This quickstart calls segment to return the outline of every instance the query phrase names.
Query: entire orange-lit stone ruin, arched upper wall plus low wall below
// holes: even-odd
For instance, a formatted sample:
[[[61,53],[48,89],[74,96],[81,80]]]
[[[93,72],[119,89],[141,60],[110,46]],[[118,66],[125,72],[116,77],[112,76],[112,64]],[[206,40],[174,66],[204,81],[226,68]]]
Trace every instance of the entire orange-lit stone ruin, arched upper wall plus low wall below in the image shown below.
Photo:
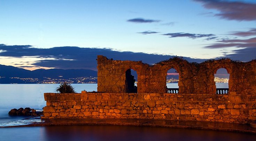
[[[166,93],[167,71],[179,73],[179,93]],[[228,94],[216,94],[214,73],[230,73]],[[127,70],[137,71],[138,93]],[[128,71],[129,73],[129,71]],[[130,91],[127,91],[130,89]],[[133,90],[132,90],[133,91]],[[179,57],[148,65],[98,56],[98,92],[45,93],[42,118],[140,118],[249,123],[256,120],[256,61],[189,63]]]

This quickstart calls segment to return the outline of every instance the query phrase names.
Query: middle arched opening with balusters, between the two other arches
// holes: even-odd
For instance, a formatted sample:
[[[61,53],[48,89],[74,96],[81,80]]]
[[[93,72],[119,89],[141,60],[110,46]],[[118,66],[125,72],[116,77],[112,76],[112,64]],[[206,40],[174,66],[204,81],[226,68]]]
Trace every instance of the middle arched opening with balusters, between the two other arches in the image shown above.
[[[166,87],[167,93],[179,93],[179,73],[171,68],[167,71],[166,75]]]

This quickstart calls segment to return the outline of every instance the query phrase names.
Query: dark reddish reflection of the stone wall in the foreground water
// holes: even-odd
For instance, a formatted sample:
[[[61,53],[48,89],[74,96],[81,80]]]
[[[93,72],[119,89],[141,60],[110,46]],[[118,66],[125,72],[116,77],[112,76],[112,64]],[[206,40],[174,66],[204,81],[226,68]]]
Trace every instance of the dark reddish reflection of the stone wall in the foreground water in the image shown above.
[[[141,126],[47,126],[46,140],[109,140],[109,141],[236,141],[256,140],[253,134],[193,130],[181,128],[141,127]]]

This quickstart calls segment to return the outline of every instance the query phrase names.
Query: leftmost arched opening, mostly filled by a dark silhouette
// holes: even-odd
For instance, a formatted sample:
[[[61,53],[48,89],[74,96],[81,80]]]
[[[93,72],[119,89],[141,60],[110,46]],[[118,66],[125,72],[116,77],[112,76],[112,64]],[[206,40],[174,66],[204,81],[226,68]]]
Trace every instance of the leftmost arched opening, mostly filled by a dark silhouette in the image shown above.
[[[137,93],[137,72],[133,69],[128,69],[125,72],[125,87],[126,93]]]

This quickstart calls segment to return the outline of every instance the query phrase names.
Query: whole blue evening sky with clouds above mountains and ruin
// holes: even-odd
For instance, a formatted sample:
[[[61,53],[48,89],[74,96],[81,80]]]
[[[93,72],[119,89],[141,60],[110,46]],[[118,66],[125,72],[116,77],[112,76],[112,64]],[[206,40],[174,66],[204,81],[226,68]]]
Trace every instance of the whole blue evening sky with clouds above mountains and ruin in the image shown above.
[[[247,62],[255,53],[255,0],[0,0],[3,65],[95,69],[96,55]]]

